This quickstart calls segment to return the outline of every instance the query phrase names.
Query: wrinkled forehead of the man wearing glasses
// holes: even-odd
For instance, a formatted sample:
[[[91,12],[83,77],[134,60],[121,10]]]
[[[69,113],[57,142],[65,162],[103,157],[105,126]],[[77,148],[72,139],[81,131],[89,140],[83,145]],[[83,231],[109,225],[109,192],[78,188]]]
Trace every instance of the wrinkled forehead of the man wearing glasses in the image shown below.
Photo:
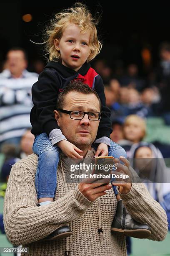
[[[68,92],[65,98],[65,108],[80,107],[100,112],[100,103],[93,93],[85,94],[82,92]],[[78,109],[77,109],[78,110]]]

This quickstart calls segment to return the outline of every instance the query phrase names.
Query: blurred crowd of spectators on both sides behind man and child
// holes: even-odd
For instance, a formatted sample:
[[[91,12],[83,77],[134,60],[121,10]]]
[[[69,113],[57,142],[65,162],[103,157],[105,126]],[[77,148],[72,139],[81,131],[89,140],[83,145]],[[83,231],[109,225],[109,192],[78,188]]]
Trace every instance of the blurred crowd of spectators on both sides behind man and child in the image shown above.
[[[140,75],[135,63],[114,68],[109,67],[105,59],[92,63],[103,79],[106,105],[111,110],[113,132],[110,137],[125,148],[129,158],[170,158],[170,145],[160,141],[143,142],[147,134],[147,118],[161,117],[165,125],[170,125],[170,43],[162,43],[158,54],[160,62],[145,76]],[[28,71],[28,56],[21,48],[10,49],[1,64],[0,182],[4,182],[0,187],[1,197],[5,195],[11,166],[32,153],[31,88],[44,66],[44,61],[38,59],[29,69],[32,72]],[[164,194],[162,186],[154,189],[148,186],[148,189],[164,207],[170,221],[170,199],[165,200],[170,197],[170,189],[165,187]]]

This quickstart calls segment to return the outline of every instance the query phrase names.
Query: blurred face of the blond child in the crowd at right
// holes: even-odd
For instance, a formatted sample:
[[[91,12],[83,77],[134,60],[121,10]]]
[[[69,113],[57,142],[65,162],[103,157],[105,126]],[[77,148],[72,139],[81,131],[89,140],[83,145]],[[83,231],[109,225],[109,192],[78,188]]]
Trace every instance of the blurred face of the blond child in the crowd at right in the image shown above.
[[[140,127],[140,123],[137,120],[126,124],[124,126],[125,138],[133,143],[139,142],[143,138],[143,129]]]

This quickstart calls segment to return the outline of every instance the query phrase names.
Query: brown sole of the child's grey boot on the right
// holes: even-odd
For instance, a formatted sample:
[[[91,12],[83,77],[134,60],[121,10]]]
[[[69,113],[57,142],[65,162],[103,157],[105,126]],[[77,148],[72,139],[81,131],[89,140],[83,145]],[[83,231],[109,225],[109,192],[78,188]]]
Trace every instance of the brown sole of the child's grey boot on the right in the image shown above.
[[[120,228],[111,228],[111,231],[124,236],[131,236],[140,239],[148,238],[151,235],[151,231],[148,229],[123,230]]]

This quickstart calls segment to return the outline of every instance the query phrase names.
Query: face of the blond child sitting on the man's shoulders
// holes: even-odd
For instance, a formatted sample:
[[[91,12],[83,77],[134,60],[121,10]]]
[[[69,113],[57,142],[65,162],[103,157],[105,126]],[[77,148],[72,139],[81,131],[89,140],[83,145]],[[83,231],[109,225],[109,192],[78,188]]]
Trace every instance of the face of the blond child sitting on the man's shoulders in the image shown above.
[[[57,51],[60,51],[62,64],[78,71],[90,54],[90,30],[80,33],[80,28],[70,23],[64,30],[62,37],[54,40]],[[76,58],[76,56],[77,58]]]

